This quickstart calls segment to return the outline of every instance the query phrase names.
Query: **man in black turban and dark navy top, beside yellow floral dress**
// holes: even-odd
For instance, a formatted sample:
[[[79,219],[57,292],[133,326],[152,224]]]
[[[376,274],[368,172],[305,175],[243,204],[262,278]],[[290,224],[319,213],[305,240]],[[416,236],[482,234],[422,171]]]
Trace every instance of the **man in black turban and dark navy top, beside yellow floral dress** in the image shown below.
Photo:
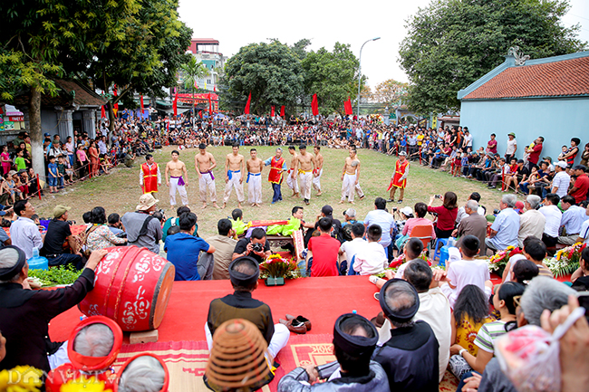
[[[391,279],[382,286],[379,301],[391,321],[391,339],[372,358],[384,368],[391,391],[438,391],[438,340],[427,322],[413,320],[420,309],[418,292],[409,282]]]

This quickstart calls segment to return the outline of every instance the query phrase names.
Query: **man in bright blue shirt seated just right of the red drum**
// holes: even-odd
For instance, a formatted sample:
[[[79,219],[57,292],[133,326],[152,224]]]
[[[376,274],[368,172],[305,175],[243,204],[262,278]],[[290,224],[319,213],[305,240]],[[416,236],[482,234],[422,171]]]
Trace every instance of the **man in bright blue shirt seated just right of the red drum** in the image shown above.
[[[175,281],[209,281],[213,276],[215,261],[200,257],[200,252],[215,253],[215,246],[194,236],[197,227],[197,215],[184,213],[179,217],[179,234],[166,238],[164,251],[168,260],[176,267]]]

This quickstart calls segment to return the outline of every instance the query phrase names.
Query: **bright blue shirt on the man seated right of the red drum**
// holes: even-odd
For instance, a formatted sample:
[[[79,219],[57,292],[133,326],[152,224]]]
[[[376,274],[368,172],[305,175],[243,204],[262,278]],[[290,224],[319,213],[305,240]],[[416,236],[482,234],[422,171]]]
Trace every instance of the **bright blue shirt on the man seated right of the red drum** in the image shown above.
[[[208,252],[209,245],[200,237],[186,233],[169,235],[164,244],[168,261],[176,267],[174,281],[200,281],[198,255]]]

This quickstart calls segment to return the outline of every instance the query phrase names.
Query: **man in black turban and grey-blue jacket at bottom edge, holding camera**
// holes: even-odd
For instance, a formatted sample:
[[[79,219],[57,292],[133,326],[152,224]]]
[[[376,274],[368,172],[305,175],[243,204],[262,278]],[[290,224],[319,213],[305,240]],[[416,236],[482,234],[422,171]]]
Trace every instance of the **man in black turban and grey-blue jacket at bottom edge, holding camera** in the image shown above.
[[[278,392],[389,392],[386,373],[378,362],[371,360],[377,339],[372,322],[359,314],[343,314],[333,326],[337,361],[295,368],[280,380]],[[321,379],[326,382],[315,383]]]

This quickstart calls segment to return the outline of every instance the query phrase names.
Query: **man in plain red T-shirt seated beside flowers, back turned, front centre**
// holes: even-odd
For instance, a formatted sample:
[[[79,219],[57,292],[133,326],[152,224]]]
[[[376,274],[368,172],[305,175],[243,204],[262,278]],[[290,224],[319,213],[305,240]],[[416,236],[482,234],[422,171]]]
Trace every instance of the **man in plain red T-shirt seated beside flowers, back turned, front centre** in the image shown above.
[[[318,237],[311,237],[308,248],[313,252],[311,263],[311,276],[337,276],[339,275],[337,256],[340,250],[340,242],[331,236],[333,230],[332,220],[323,217],[319,220]],[[307,263],[308,265],[308,263]]]

